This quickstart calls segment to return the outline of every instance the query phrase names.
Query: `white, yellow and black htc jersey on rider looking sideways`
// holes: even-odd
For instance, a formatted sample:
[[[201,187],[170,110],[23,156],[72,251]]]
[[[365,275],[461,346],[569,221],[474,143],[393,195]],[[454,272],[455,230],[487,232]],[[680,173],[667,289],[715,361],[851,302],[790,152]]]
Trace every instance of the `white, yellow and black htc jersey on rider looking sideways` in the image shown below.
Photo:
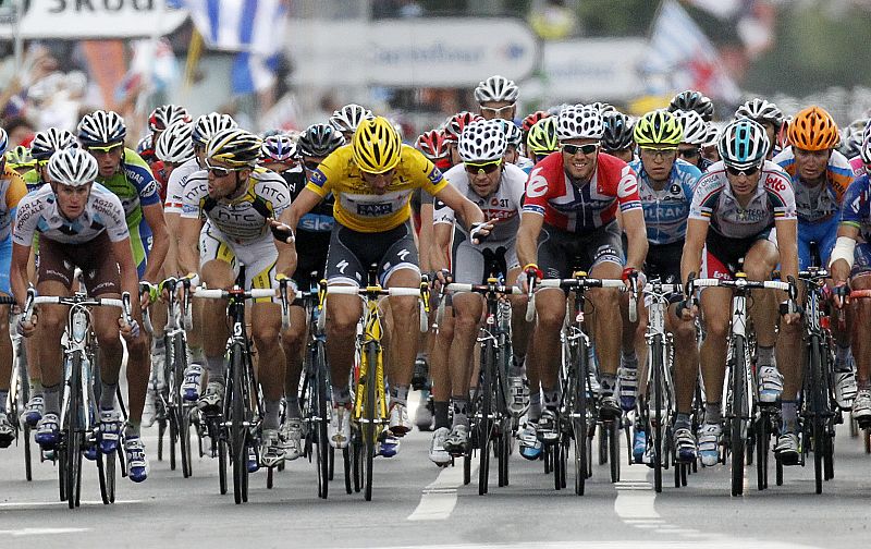
[[[182,218],[208,219],[235,244],[247,244],[269,233],[267,218],[278,218],[291,196],[287,185],[275,172],[256,168],[248,178],[245,194],[232,200],[209,196],[209,172],[200,170],[187,179]]]

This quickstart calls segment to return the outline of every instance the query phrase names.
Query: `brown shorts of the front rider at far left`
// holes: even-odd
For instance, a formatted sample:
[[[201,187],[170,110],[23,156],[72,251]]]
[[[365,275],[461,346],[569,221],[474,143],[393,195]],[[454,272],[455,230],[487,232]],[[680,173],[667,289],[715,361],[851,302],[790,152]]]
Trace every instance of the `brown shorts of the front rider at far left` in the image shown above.
[[[78,267],[91,296],[121,293],[121,273],[106,231],[84,244],[61,244],[46,237],[39,240],[39,282],[56,280],[71,290]]]

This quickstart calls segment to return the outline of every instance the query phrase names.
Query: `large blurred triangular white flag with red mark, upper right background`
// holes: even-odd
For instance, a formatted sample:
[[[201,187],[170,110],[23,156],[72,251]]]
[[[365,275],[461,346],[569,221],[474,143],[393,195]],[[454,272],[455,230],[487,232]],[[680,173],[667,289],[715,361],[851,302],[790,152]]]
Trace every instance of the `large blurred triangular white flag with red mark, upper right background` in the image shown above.
[[[676,0],[660,7],[641,72],[654,95],[697,89],[733,103],[741,98],[716,49]]]

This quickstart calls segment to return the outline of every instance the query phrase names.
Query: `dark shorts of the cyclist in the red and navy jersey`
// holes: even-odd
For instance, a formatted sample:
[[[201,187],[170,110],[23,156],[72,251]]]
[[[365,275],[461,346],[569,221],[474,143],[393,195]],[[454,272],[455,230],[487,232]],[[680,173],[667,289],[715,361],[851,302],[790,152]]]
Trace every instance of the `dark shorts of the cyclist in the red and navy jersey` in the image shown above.
[[[618,266],[623,259],[621,229],[616,221],[585,233],[544,224],[538,237],[538,265],[544,278],[568,278],[575,269],[591,271],[603,263]]]

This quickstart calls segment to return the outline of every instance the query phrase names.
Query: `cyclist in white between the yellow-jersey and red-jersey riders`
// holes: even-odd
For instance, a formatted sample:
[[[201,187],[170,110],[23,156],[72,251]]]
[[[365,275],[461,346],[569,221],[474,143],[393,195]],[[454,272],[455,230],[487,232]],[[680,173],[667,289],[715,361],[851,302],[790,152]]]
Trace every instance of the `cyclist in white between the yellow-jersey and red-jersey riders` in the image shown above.
[[[443,281],[449,278],[445,273],[450,271],[453,271],[450,278],[454,281],[470,284],[480,284],[488,277],[500,274],[511,281],[520,273],[515,240],[527,175],[518,167],[504,161],[507,147],[504,127],[498,121],[477,122],[467,126],[458,144],[463,164],[455,166],[444,174],[463,196],[478,205],[484,217],[493,223],[493,230],[486,244],[474,246],[468,232],[455,222],[454,210],[437,200],[433,255],[442,253],[433,267],[441,272]],[[443,253],[446,251],[450,251],[450,256]],[[499,266],[499,270],[491,272],[493,264]],[[515,305],[512,317],[514,352],[512,371],[507,374],[512,393],[523,394],[523,363],[528,338],[526,322],[523,321],[525,308],[522,302],[525,300],[512,297]],[[473,351],[483,314],[483,300],[474,293],[454,294],[452,304],[454,329],[449,364],[453,426],[450,434],[444,427],[437,429],[430,447],[430,460],[442,466],[451,461],[451,455],[463,455],[468,449]]]

